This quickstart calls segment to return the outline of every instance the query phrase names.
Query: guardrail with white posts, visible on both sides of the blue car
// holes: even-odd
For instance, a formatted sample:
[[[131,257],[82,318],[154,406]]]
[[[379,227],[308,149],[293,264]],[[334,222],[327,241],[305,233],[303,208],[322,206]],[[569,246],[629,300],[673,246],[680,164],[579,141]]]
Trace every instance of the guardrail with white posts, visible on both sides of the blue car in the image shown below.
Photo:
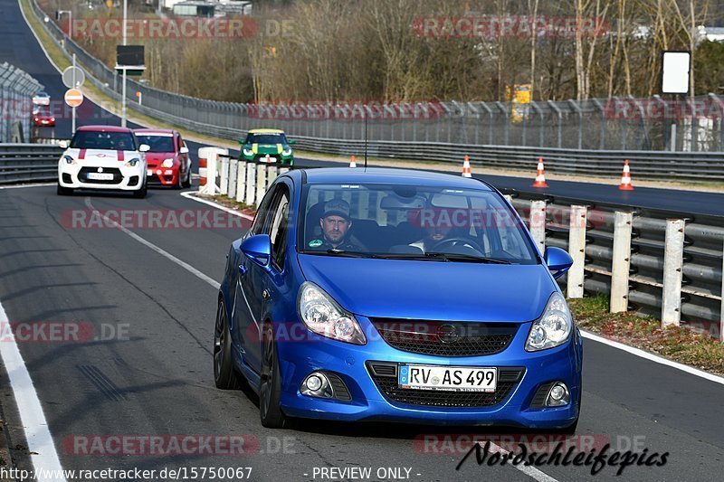
[[[275,165],[210,157],[204,194],[239,203],[258,205],[283,174]],[[559,279],[569,298],[603,293],[612,311],[637,311],[724,341],[721,218],[544,194],[508,198],[541,250],[557,246],[571,253],[574,266]]]

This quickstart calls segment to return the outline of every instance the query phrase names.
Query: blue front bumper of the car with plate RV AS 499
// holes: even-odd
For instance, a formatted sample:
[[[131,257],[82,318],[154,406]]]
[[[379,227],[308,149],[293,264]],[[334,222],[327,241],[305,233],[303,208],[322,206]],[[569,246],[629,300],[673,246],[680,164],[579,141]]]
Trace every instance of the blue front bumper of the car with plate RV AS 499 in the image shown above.
[[[364,318],[360,318],[357,317],[362,323]],[[282,380],[281,407],[292,417],[336,421],[406,421],[532,429],[568,427],[576,421],[579,411],[577,400],[581,390],[581,338],[576,329],[576,335],[572,336],[567,344],[538,353],[528,353],[523,346],[529,328],[530,323],[521,325],[508,348],[500,354],[452,358],[407,353],[387,345],[381,339],[368,340],[367,345],[360,346],[316,335],[308,336],[304,342],[283,341],[278,338]],[[490,404],[481,406],[395,402],[383,393],[379,377],[370,370],[370,362],[497,367],[499,390],[505,392],[499,393],[500,396],[493,398]],[[347,385],[351,401],[302,395],[299,391],[300,384],[314,371],[338,375]],[[505,387],[500,383],[500,373],[510,374],[516,371],[519,371],[520,375],[513,383],[509,383],[511,386]],[[554,381],[567,384],[571,402],[564,407],[532,408],[531,403],[538,388]]]

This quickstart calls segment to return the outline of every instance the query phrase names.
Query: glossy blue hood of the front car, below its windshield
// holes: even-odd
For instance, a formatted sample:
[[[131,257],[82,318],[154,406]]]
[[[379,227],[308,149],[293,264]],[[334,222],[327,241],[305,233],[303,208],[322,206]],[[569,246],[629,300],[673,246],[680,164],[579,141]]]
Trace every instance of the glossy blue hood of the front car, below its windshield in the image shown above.
[[[543,265],[300,254],[304,277],[364,317],[526,322],[556,289]]]

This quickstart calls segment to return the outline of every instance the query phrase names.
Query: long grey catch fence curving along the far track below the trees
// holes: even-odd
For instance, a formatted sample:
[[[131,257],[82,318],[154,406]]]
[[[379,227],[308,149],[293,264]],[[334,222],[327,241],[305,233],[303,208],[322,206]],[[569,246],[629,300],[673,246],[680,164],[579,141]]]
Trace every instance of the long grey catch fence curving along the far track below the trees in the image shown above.
[[[45,14],[31,0],[33,14]],[[115,71],[67,38],[54,22],[41,22],[66,53],[75,53],[94,83],[120,98]],[[136,92],[141,92],[143,105]],[[338,141],[430,142],[472,146],[538,146],[599,150],[724,151],[724,98],[714,94],[676,101],[614,98],[586,101],[417,101],[254,105],[197,99],[128,80],[133,109],[177,126],[235,139],[252,128],[278,127],[294,137]],[[366,122],[367,119],[367,122]],[[193,126],[193,127],[192,127]]]

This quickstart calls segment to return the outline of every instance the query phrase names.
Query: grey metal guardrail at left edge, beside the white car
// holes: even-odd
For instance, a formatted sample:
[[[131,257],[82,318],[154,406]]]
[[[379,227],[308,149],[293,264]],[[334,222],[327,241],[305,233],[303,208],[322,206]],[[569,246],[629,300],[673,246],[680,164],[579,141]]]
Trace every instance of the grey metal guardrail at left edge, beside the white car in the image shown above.
[[[0,184],[57,180],[62,151],[59,146],[0,144]]]

